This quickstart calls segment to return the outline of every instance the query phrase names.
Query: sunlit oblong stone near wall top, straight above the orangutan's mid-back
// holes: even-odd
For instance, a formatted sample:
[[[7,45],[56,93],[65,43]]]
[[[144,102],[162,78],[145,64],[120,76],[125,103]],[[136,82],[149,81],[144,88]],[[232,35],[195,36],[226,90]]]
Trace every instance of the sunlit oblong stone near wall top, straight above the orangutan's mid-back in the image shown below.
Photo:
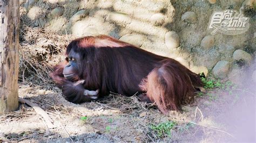
[[[129,15],[126,13],[121,12],[110,12],[109,15],[107,15],[106,20],[109,22],[116,22],[116,23],[131,23],[132,19]]]

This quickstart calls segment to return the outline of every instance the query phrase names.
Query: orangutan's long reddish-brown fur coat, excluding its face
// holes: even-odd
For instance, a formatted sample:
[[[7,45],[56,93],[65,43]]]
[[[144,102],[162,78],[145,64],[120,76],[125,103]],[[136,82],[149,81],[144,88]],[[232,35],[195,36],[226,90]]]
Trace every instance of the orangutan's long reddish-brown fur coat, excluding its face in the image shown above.
[[[68,101],[91,101],[84,89],[99,89],[99,97],[112,92],[156,103],[159,110],[180,110],[181,104],[193,100],[195,89],[201,87],[199,75],[178,61],[159,56],[106,35],[89,36],[70,42],[66,55],[73,49],[79,53],[77,80],[68,81],[62,71],[66,63],[55,67],[51,77]],[[145,96],[143,96],[143,94]]]

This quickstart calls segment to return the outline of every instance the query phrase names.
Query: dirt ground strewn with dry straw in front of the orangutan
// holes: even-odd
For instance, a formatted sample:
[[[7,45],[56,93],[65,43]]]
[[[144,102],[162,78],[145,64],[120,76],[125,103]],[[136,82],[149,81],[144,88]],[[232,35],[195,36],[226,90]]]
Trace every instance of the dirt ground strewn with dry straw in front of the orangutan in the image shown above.
[[[20,83],[19,97],[41,106],[55,126],[49,128],[30,106],[20,104],[18,111],[0,116],[0,142],[255,141],[255,92],[232,91],[207,90],[183,111],[163,115],[135,96],[112,94],[72,104],[58,89]],[[152,129],[166,121],[175,123],[170,134]]]

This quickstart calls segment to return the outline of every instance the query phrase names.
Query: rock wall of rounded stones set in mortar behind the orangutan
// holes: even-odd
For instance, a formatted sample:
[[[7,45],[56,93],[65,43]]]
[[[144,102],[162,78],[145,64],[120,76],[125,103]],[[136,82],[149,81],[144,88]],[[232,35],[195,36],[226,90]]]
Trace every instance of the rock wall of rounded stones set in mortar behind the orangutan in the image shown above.
[[[255,56],[254,0],[20,0],[20,3],[26,26],[75,37],[111,35],[176,59],[196,73],[203,71],[207,75],[212,70],[214,76],[225,78],[233,70],[250,66]],[[207,26],[214,11],[239,11],[241,6],[244,15],[250,18],[247,32],[210,34]]]

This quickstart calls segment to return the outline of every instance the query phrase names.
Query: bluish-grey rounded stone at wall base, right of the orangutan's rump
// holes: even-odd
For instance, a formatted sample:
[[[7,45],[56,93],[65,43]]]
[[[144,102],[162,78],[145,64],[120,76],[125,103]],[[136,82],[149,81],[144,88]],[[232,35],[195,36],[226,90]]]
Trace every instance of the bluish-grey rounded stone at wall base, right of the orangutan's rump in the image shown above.
[[[212,73],[214,76],[223,79],[227,77],[229,70],[230,70],[230,62],[222,60],[217,62],[217,64],[212,69]]]

